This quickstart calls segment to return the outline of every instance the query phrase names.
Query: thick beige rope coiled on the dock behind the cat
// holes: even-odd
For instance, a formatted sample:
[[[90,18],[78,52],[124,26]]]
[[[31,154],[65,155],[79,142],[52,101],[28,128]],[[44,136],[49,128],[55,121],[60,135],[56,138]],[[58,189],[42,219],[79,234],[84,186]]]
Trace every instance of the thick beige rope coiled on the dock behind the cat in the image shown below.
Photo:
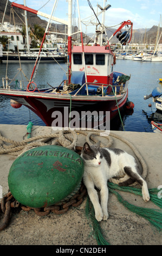
[[[36,137],[31,137],[28,139],[24,139],[21,142],[17,142],[14,141],[12,139],[9,138],[5,138],[1,135],[0,132],[0,154],[11,154],[11,155],[20,155],[22,154],[24,151],[27,151],[31,148],[34,147],[40,147],[43,145],[48,145],[48,141],[50,141],[50,139],[54,139],[53,142],[51,142],[52,145],[61,145],[62,147],[66,147],[69,149],[74,150],[75,149],[75,145],[78,141],[78,135],[85,135],[86,136],[86,142],[88,142],[90,145],[92,145],[93,142],[97,143],[98,141],[100,141],[100,139],[94,137],[94,136],[100,136],[100,137],[104,137],[107,139],[107,143],[103,144],[101,142],[101,147],[111,147],[113,144],[113,139],[117,138],[120,139],[122,142],[126,143],[134,152],[135,156],[138,158],[141,167],[142,167],[142,178],[146,178],[147,176],[147,164],[145,162],[145,160],[142,158],[141,154],[139,153],[139,151],[137,150],[137,148],[135,148],[135,146],[129,142],[127,139],[116,135],[113,132],[110,132],[109,135],[106,135],[105,131],[102,130],[61,130],[61,131],[57,131],[56,133],[52,133],[52,134],[48,134],[48,135],[41,135],[41,136],[36,136]],[[90,141],[91,140],[91,141]],[[9,143],[10,145],[6,145],[4,144],[4,142]],[[110,182],[113,182],[115,184],[119,184],[119,180],[116,178],[111,178],[109,180]],[[133,185],[136,185],[137,183],[134,182]]]

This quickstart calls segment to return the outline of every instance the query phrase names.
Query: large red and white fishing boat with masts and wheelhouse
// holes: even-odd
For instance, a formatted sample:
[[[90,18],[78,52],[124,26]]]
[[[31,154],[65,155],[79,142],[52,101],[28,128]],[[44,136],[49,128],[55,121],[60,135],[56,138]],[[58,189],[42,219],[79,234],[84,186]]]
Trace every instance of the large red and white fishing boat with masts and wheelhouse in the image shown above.
[[[111,5],[105,6],[105,2],[101,9],[103,16],[105,11],[111,7]],[[96,24],[94,45],[88,46],[83,45],[80,12],[78,12],[81,45],[72,47],[72,0],[68,1],[68,22],[53,16],[56,3],[57,1],[55,1],[51,11],[43,40],[46,38],[51,20],[68,25],[67,76],[62,77],[57,87],[50,85],[48,88],[37,88],[34,74],[38,64],[38,56],[41,54],[42,41],[40,52],[26,88],[14,89],[7,78],[3,80],[3,88],[0,89],[0,95],[11,99],[14,107],[20,107],[21,105],[28,107],[47,126],[99,127],[104,130],[103,124],[108,123],[108,120],[114,118],[120,109],[124,107],[128,98],[128,82],[130,78],[130,76],[113,70],[115,55],[109,41],[116,35],[121,44],[128,44],[132,38],[133,23],[129,20],[122,22],[111,38],[108,39],[104,23],[101,25],[98,22]],[[77,5],[79,10],[78,2]],[[89,6],[92,8],[92,5]],[[12,2],[12,7],[38,14],[38,11],[14,2]],[[96,19],[96,14],[94,17]],[[98,28],[99,26],[100,28]],[[122,32],[121,29],[124,27],[126,30]],[[101,44],[101,35],[103,36],[103,34],[106,35],[107,39],[105,45]]]

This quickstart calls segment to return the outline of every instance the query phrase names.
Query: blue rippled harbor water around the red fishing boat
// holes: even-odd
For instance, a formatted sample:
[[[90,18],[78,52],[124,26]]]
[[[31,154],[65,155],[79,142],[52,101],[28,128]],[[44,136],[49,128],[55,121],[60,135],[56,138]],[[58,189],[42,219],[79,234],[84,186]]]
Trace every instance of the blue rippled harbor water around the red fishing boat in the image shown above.
[[[21,64],[24,74],[30,78],[34,64]],[[2,87],[2,77],[6,76],[7,64],[0,64],[0,86]],[[9,63],[7,76],[13,78],[20,68],[19,64]],[[135,62],[134,60],[117,59],[114,71],[123,72],[131,75],[128,87],[128,100],[134,103],[133,111],[121,113],[120,117],[111,122],[111,130],[125,130],[137,132],[153,132],[151,120],[162,122],[162,113],[155,109],[155,103],[152,98],[144,100],[144,95],[151,94],[155,87],[160,86],[159,78],[161,74],[162,63]],[[35,83],[38,88],[49,87],[48,84],[55,87],[62,82],[64,73],[67,72],[67,65],[62,63],[40,63],[36,72]],[[20,73],[15,78],[22,80]],[[23,77],[25,81],[25,77]],[[17,83],[20,86],[20,83]],[[27,85],[27,80],[25,81]],[[148,105],[151,104],[151,107]],[[88,109],[87,109],[88,110]],[[28,125],[32,121],[34,125],[45,126],[43,121],[35,113],[29,111],[27,107],[15,109],[10,105],[10,100],[0,96],[0,124],[18,124]]]

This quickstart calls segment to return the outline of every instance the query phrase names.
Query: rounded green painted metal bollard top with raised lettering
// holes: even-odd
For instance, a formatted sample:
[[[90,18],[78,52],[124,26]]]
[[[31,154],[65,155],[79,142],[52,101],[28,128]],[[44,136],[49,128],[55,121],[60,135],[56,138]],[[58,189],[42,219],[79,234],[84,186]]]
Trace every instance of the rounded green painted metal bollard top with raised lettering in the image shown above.
[[[18,202],[42,208],[72,193],[81,182],[83,170],[83,161],[74,151],[47,145],[26,151],[12,163],[8,185]]]

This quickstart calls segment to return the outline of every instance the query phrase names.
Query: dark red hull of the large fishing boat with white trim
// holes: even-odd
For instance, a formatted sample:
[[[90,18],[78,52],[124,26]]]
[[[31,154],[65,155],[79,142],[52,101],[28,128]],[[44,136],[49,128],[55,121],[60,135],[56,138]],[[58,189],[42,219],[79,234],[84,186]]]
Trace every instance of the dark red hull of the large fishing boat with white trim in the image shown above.
[[[118,115],[118,109],[124,107],[128,90],[122,95],[103,97],[5,89],[1,89],[0,94],[31,109],[47,126],[109,130],[109,121]]]

